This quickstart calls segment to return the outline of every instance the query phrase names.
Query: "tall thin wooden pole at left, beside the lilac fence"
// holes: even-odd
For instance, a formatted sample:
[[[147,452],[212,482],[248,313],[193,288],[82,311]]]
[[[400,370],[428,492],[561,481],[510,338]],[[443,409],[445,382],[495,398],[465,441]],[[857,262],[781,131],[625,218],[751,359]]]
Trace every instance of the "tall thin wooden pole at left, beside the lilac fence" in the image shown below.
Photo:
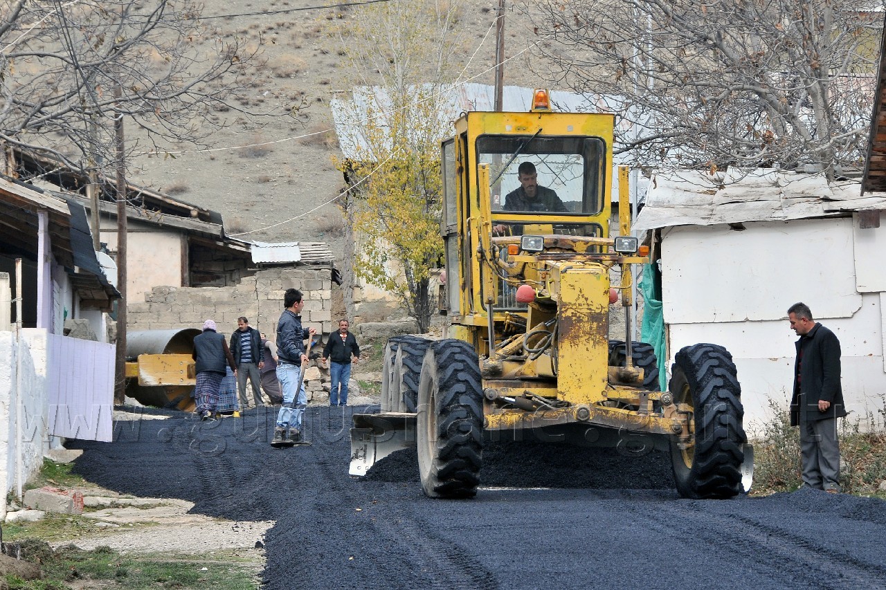
[[[120,83],[114,87],[114,98],[120,105],[123,90]],[[123,111],[116,114],[113,123],[117,151],[117,358],[114,369],[114,402],[122,404],[126,396],[126,159],[123,154]],[[98,233],[98,232],[96,232]]]

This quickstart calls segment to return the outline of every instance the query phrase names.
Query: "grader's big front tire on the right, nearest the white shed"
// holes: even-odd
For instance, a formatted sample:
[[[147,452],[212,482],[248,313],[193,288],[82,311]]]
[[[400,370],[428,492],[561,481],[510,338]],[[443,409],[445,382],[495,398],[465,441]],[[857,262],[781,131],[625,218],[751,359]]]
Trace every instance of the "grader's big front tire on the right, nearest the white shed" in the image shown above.
[[[674,357],[669,389],[675,403],[692,408],[693,443],[671,439],[677,491],[684,498],[732,498],[742,492],[744,408],[732,355],[711,344],[687,346]]]

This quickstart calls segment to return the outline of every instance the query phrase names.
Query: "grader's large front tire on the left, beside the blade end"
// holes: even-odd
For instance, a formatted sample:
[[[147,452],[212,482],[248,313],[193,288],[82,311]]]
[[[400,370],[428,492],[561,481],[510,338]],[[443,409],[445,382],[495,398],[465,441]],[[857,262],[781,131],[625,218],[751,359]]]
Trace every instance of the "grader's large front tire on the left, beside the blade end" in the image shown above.
[[[483,453],[483,390],[477,353],[466,342],[440,340],[428,349],[416,422],[425,495],[476,495]]]

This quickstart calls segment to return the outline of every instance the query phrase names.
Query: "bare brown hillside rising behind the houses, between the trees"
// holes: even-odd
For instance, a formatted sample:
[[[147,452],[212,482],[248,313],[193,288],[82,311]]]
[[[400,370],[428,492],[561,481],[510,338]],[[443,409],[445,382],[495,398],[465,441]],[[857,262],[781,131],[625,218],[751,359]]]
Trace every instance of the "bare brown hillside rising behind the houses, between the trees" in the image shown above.
[[[218,113],[229,126],[214,135],[212,151],[188,151],[183,146],[175,158],[137,158],[129,168],[129,180],[220,212],[230,235],[262,241],[324,241],[340,259],[343,218],[332,202],[344,181],[332,164],[340,152],[331,131],[329,105],[331,98],[348,91],[349,82],[337,55],[334,31],[349,19],[360,19],[367,9],[344,4],[312,8],[317,4],[323,0],[207,0],[205,16],[241,15],[213,19],[223,35],[261,42],[265,66],[258,82],[238,102],[277,113],[302,97],[309,106],[299,120],[289,115],[265,117],[254,130],[245,129],[233,112]],[[470,29],[470,43],[455,58],[474,57],[462,79],[494,82],[491,27],[497,5],[497,0],[463,4],[460,24]],[[507,13],[506,55],[525,49],[532,35],[527,23],[524,15]],[[509,61],[506,84],[538,83],[527,67],[528,55],[527,51]],[[486,70],[490,71],[483,74]]]

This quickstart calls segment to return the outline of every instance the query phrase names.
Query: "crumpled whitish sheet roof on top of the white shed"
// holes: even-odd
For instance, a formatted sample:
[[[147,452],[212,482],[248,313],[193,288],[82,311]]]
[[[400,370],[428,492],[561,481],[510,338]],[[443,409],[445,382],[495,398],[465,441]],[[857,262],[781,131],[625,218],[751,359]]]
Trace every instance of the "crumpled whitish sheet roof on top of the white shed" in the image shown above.
[[[669,171],[652,176],[633,229],[810,219],[884,207],[886,197],[861,197],[859,182],[828,183],[820,174],[771,169],[733,169],[714,175]]]

